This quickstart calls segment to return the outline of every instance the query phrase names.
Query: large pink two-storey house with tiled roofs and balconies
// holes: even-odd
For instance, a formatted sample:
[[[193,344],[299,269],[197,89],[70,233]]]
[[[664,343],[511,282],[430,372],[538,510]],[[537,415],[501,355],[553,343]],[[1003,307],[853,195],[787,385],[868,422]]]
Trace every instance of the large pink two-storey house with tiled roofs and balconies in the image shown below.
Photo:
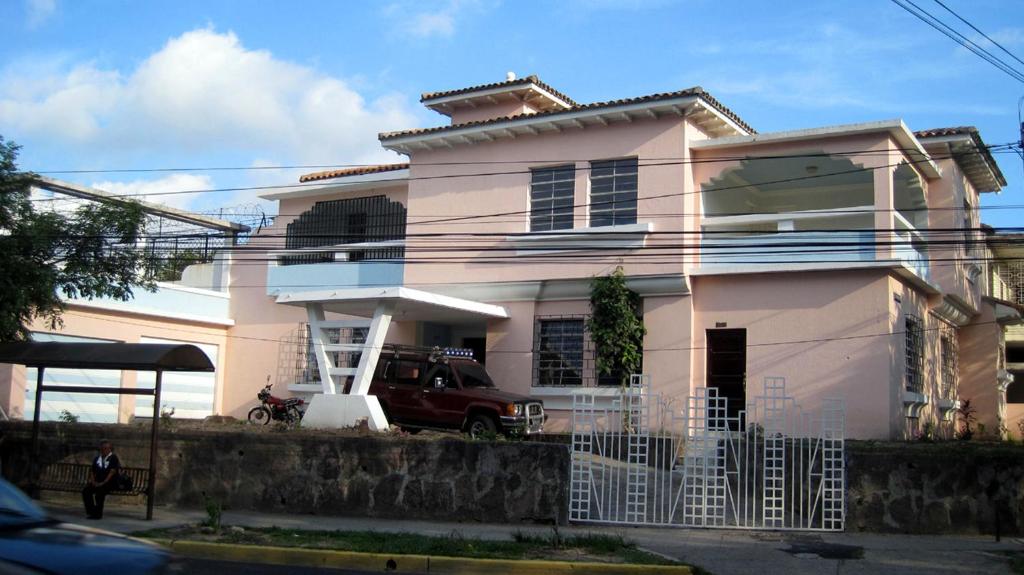
[[[265,196],[279,217],[230,268],[221,412],[271,375],[358,392],[389,341],[472,348],[564,430],[572,394],[618,392],[584,329],[618,265],[655,392],[741,402],[779,375],[876,439],[998,404],[1020,316],[986,294],[979,195],[1006,182],[973,128],[758,134],[700,88],[579,104],[532,76],[422,101],[451,125],[381,134],[408,163]]]

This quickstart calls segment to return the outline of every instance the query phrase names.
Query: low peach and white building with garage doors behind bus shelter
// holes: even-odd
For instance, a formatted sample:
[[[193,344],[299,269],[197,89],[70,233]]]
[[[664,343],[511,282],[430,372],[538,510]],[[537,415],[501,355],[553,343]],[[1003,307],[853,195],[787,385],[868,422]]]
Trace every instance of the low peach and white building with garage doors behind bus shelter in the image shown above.
[[[37,210],[71,211],[85,202],[110,201],[113,194],[50,178],[40,178],[32,197]],[[213,373],[167,372],[161,406],[176,417],[201,418],[222,411],[225,389],[230,295],[230,251],[244,225],[141,202],[147,216],[142,247],[158,279],[157,290],[134,290],[127,302],[112,299],[66,300],[63,325],[33,325],[36,341],[186,343],[200,347],[216,367]],[[152,387],[152,372],[50,368],[50,384]],[[0,364],[0,406],[12,417],[32,418],[36,370]],[[56,419],[67,410],[88,423],[127,423],[136,414],[151,417],[153,399],[134,395],[48,393],[40,415]]]

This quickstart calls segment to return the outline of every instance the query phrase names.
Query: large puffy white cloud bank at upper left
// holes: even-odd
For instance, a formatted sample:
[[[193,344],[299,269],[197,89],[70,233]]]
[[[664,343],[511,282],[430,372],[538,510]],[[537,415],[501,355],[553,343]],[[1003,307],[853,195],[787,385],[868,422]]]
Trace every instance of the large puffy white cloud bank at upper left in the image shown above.
[[[62,60],[0,71],[0,125],[83,149],[369,163],[392,157],[378,132],[416,124],[403,98],[368,101],[345,80],[210,29],[131,71]]]

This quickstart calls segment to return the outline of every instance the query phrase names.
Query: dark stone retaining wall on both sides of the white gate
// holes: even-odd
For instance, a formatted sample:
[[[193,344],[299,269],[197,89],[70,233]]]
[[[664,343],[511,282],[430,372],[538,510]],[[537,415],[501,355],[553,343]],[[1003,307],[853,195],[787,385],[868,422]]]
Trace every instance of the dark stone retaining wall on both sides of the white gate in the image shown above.
[[[565,523],[568,437],[544,443],[459,436],[219,426],[160,441],[157,502],[353,517]],[[40,462],[88,462],[102,438],[145,467],[148,428],[43,424]],[[3,475],[25,484],[31,425],[0,425]],[[998,443],[847,442],[847,529],[1024,533],[1024,447]],[[998,521],[997,521],[998,520]],[[998,523],[998,525],[997,525]]]

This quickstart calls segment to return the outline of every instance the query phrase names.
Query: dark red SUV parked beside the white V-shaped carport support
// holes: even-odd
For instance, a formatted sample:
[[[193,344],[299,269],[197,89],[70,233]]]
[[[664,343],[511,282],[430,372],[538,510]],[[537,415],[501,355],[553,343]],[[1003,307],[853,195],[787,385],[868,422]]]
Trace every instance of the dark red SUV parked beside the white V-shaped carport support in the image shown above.
[[[544,403],[495,387],[468,350],[385,345],[370,393],[388,422],[404,429],[542,433]]]

